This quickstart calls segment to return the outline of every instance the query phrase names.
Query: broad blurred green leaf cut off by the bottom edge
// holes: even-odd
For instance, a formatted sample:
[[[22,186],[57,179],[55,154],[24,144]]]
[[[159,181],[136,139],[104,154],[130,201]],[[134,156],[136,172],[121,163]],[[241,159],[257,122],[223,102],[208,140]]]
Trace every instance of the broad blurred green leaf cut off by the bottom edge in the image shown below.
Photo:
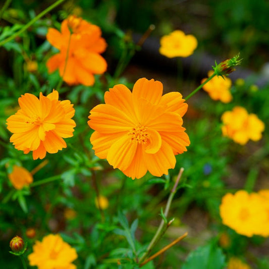
[[[225,256],[221,248],[208,244],[192,251],[181,269],[222,269],[224,265]]]

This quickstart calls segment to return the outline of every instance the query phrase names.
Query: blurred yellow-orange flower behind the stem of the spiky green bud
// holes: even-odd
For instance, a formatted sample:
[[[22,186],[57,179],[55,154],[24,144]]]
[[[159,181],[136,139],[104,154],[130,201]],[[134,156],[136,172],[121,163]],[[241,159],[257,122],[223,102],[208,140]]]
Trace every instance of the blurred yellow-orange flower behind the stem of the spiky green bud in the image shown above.
[[[208,78],[214,73],[213,70],[208,71]],[[207,78],[203,78],[201,83],[206,81]],[[232,80],[223,76],[214,76],[209,80],[203,89],[209,94],[210,98],[213,100],[220,100],[224,103],[229,103],[233,96],[231,94]]]

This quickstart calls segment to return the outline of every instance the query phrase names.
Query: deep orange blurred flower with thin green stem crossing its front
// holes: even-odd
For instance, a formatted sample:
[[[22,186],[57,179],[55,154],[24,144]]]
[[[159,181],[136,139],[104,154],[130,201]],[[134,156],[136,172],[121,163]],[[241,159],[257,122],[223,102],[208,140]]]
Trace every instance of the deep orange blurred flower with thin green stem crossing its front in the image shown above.
[[[48,72],[59,69],[63,80],[69,85],[93,85],[93,75],[106,71],[107,64],[100,56],[106,42],[98,26],[71,15],[62,22],[61,32],[49,28],[46,38],[60,50],[47,61]]]

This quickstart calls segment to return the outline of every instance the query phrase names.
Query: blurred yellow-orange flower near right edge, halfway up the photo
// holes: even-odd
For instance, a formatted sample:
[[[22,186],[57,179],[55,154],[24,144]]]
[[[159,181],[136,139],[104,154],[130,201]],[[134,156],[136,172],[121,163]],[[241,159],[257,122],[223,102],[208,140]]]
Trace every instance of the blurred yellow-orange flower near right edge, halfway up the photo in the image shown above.
[[[250,139],[260,140],[265,128],[264,123],[255,114],[248,114],[241,106],[235,106],[232,111],[226,111],[222,115],[222,122],[223,135],[241,145],[245,145]]]

